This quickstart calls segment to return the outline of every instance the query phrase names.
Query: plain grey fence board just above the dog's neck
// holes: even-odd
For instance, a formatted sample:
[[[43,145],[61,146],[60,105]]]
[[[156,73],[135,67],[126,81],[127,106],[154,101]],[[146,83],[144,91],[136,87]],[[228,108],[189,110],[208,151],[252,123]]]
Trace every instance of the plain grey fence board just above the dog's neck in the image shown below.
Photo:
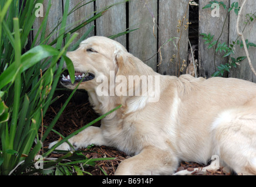
[[[132,0],[129,4],[129,51],[157,71],[157,1]]]

